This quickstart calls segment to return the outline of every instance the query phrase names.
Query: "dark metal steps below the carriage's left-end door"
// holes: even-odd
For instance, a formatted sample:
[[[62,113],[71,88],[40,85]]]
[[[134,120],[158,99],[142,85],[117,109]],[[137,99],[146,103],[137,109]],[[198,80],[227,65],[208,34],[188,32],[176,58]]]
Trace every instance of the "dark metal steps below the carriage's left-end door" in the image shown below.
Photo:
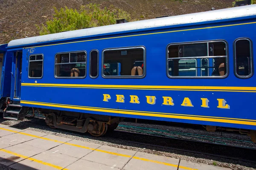
[[[28,113],[29,108],[21,105],[9,104],[3,113],[3,119],[22,120]]]

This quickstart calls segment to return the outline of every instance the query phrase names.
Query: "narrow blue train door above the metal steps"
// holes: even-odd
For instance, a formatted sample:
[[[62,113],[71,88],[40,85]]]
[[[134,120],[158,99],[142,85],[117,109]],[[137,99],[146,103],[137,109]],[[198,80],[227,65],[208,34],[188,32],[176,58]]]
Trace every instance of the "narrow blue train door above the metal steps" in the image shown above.
[[[21,63],[22,63],[22,52],[17,51],[14,53],[13,62],[12,62],[11,99],[13,101],[20,101]]]

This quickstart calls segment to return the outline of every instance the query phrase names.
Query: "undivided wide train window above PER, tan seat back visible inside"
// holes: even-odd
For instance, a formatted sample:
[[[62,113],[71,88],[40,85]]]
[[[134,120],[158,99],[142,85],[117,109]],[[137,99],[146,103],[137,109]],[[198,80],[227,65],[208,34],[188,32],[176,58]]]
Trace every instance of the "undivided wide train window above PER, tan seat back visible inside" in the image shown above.
[[[145,48],[105,49],[102,57],[102,77],[145,77]]]

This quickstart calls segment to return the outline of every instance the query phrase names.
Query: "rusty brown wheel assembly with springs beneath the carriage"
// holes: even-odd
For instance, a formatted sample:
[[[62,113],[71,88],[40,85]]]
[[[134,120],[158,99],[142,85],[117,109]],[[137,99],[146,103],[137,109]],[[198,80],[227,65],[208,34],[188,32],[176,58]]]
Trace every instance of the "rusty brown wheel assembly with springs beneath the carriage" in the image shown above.
[[[107,131],[115,130],[122,117],[96,114],[76,113],[68,111],[41,110],[45,122],[51,128],[60,128],[76,132],[89,132],[92,136],[103,136]]]

